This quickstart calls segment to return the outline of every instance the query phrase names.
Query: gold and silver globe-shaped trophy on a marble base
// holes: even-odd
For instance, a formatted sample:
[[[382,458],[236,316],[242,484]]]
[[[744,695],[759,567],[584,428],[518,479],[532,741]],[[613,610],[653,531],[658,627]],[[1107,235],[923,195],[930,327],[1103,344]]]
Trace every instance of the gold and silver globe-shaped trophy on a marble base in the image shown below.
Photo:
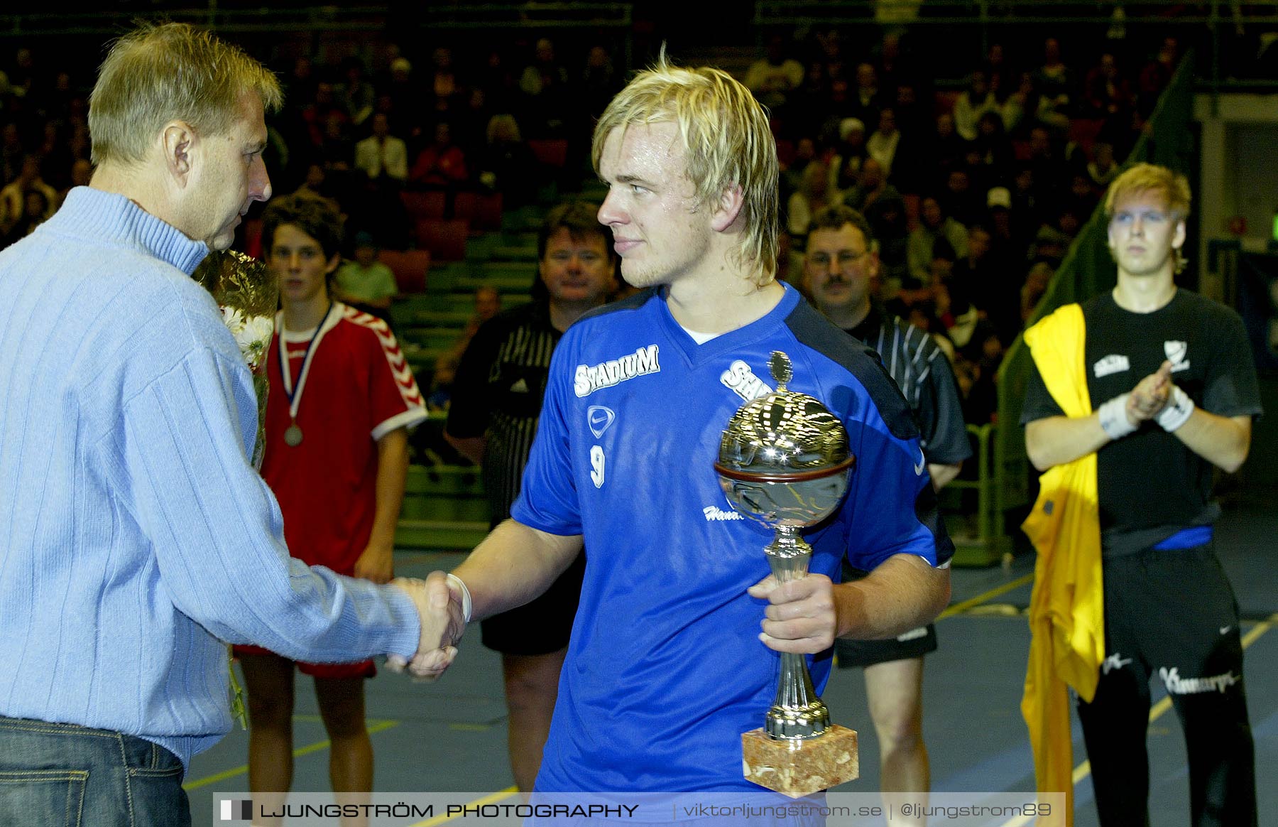
[[[835,513],[855,458],[847,429],[820,400],[786,390],[790,357],[772,352],[777,390],[734,414],[714,463],[727,501],[744,516],[776,530],[763,551],[780,583],[808,574],[812,546],[800,530]],[[856,732],[829,722],[806,656],[782,652],[777,697],[760,729],[741,735],[745,777],[799,798],[859,772]]]

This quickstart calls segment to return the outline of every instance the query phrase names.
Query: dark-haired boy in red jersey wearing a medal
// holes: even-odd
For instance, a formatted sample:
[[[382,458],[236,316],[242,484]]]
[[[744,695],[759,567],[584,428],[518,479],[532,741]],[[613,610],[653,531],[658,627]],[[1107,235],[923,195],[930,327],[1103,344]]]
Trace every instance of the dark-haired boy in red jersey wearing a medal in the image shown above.
[[[408,428],[427,412],[386,322],[331,298],[341,224],[322,201],[286,197],[262,215],[262,249],[280,280],[268,358],[262,477],[284,514],[291,552],[339,574],[386,583],[408,473]],[[249,789],[282,800],[293,780],[294,662],[236,647],[248,690]],[[312,675],[332,741],[339,801],[372,790],[363,679],[372,661],[298,663]],[[346,798],[343,794],[348,794]],[[363,796],[360,796],[363,794]],[[344,823],[355,823],[345,822]]]

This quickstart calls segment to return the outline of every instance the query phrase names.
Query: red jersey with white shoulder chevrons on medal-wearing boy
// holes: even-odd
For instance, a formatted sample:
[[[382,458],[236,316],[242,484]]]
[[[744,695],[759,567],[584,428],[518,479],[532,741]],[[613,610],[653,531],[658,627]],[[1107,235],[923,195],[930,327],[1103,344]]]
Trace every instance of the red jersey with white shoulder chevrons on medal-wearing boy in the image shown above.
[[[377,440],[423,422],[426,404],[395,335],[376,316],[335,302],[318,331],[285,330],[282,313],[275,331],[262,477],[280,501],[289,552],[349,574],[373,527]],[[280,371],[281,335],[288,386]],[[296,390],[296,446],[284,440],[293,423],[288,387]]]

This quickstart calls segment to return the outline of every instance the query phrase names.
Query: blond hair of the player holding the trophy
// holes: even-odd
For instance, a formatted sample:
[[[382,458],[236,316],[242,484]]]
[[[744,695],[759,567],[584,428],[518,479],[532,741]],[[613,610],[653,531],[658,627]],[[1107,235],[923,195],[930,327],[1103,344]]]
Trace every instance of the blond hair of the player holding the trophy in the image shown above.
[[[686,175],[697,207],[741,188],[745,235],[735,251],[743,266],[773,280],[777,261],[777,143],[768,114],[750,91],[720,69],[680,68],[666,60],[640,72],[621,89],[594,127],[590,160],[599,170],[603,142],[613,129],[672,123],[684,142]]]

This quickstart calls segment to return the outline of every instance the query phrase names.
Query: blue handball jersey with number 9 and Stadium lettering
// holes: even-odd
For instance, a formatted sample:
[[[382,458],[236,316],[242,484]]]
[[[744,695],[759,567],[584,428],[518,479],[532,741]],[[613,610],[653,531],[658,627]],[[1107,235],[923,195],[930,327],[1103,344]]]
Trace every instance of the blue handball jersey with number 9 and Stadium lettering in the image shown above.
[[[538,790],[760,789],[741,776],[740,738],[763,725],[781,658],[758,639],[766,602],[746,588],[768,574],[772,533],[732,511],[713,464],[732,414],[773,390],[773,350],[792,360],[787,387],[835,412],[856,455],[841,510],[805,533],[810,570],[837,579],[845,553],[864,570],[897,553],[948,561],[900,391],[791,288],[702,345],[656,290],[583,317],[555,350],[511,510],[589,548]],[[818,692],[829,657],[810,661]]]

